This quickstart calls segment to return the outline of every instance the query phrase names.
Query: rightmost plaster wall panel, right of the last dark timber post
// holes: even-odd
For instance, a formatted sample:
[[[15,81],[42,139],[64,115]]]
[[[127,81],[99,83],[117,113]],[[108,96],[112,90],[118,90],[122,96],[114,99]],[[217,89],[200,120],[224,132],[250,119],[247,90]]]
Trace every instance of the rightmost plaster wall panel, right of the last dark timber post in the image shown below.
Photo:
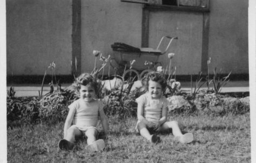
[[[211,69],[248,73],[248,1],[211,1]]]

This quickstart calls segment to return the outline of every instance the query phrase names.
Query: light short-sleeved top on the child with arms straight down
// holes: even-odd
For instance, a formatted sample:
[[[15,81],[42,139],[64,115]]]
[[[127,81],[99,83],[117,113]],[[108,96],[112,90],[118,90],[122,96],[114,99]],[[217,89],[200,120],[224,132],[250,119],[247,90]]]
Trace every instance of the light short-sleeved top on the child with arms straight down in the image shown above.
[[[79,127],[96,126],[99,119],[99,110],[103,109],[104,104],[99,100],[85,102],[79,98],[69,105],[69,109],[75,109],[73,124]]]

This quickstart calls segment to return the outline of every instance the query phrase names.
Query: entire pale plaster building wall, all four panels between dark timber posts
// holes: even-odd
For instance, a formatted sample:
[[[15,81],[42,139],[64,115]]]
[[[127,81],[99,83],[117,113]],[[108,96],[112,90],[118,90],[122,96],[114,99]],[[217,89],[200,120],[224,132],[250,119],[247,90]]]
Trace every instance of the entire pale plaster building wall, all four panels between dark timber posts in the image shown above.
[[[214,0],[210,10],[211,69],[248,74],[248,2]],[[140,47],[142,11],[142,4],[119,0],[81,1],[81,72],[93,69],[94,49],[107,56],[112,55],[114,42]],[[168,51],[176,53],[172,66],[177,67],[177,74],[197,74],[201,70],[203,13],[153,11],[149,18],[149,47],[156,48],[161,36],[179,37]],[[71,74],[71,0],[7,0],[6,32],[8,75],[43,75],[53,60],[56,74]],[[169,65],[166,55],[159,60]]]

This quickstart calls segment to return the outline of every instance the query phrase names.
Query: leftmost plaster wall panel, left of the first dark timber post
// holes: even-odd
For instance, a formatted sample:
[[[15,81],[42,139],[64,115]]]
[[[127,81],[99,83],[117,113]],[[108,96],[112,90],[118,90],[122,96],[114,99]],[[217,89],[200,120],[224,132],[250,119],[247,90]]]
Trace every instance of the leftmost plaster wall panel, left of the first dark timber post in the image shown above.
[[[7,74],[71,74],[71,0],[6,0]],[[50,73],[50,72],[49,72]]]

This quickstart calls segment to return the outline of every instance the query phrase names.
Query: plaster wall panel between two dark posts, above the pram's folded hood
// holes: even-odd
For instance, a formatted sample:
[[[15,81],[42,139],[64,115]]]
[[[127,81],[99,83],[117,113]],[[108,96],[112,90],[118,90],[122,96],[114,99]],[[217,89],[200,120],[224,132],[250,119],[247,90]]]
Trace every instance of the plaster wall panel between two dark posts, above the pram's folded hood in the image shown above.
[[[93,49],[107,56],[112,54],[111,44],[114,42],[140,46],[143,5],[123,3],[119,0],[90,0],[81,3],[81,72],[91,72],[93,69],[95,60],[92,55]],[[105,68],[105,73],[107,70],[108,66]]]

